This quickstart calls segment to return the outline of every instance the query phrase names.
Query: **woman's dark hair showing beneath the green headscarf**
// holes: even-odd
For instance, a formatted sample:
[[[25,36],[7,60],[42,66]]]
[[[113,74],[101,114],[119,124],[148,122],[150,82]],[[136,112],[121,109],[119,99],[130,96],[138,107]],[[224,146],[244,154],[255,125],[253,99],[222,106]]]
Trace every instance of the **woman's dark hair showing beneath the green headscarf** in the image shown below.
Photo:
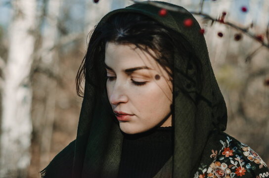
[[[104,72],[101,72],[104,67],[103,69],[99,67],[104,66],[106,42],[134,44],[137,48],[151,55],[170,75],[171,80],[173,80],[175,46],[183,58],[195,60],[194,64],[199,63],[199,61],[196,61],[197,58],[193,57],[191,45],[178,32],[145,15],[118,13],[112,15],[106,22],[98,24],[94,29],[87,53],[76,77],[77,94],[79,96],[82,96],[81,82],[84,78],[99,91],[105,88],[103,84],[106,76]],[[155,56],[149,49],[155,53]],[[198,65],[196,69],[199,70],[200,66]],[[199,75],[199,72],[197,73]]]

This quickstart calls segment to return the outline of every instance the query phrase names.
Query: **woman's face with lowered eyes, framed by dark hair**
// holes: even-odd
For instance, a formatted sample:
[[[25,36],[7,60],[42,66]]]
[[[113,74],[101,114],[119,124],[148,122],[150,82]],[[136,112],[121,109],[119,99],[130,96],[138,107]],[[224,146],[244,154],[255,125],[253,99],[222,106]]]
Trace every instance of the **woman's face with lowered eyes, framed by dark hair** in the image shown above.
[[[108,42],[105,65],[108,99],[124,133],[172,126],[172,82],[154,58],[135,45]]]

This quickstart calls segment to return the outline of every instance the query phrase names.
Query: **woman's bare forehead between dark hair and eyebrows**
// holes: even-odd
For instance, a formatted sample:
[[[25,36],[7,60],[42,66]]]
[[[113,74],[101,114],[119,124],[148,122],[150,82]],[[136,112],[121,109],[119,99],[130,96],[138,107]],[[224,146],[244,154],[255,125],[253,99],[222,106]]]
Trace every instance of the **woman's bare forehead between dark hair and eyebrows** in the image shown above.
[[[155,53],[150,51],[153,55]],[[106,43],[105,46],[105,63],[112,68],[131,68],[138,66],[147,66],[158,70],[160,65],[147,52],[142,51],[133,44],[115,44]]]

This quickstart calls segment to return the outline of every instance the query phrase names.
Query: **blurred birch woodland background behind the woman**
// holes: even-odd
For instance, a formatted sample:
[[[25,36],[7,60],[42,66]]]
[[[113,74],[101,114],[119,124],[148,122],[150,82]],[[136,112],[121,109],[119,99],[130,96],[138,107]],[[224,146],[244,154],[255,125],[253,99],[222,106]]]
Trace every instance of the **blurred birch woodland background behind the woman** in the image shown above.
[[[269,164],[269,0],[204,0],[202,9],[202,0],[163,1],[248,32],[195,15],[226,101],[226,133]],[[107,12],[133,3],[0,0],[0,178],[39,178],[76,138],[75,77],[89,33]]]

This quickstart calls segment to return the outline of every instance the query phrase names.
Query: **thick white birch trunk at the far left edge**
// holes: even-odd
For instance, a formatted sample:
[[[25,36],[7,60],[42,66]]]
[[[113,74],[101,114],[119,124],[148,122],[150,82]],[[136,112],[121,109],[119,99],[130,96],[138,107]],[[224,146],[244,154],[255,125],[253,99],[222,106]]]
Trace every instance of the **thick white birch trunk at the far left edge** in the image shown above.
[[[3,71],[0,135],[0,178],[26,177],[30,164],[32,89],[36,1],[14,0],[9,27],[9,52]]]

